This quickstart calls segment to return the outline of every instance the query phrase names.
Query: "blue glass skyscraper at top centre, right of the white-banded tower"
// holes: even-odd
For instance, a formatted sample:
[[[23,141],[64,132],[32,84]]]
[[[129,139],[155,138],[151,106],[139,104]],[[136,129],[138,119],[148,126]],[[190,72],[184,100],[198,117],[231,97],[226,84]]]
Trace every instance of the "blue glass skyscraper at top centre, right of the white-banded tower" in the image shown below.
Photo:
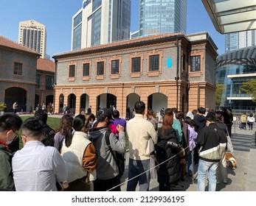
[[[187,31],[187,0],[140,0],[139,36]]]

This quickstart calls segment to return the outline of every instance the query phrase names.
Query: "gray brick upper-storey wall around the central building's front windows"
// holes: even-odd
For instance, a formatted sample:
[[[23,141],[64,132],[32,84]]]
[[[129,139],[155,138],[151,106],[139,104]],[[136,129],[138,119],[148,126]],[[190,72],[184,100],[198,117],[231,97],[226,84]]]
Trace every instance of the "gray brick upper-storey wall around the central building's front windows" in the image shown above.
[[[147,52],[153,51],[153,49],[156,49],[156,51],[162,50],[163,56],[160,59],[162,61],[162,73],[159,74],[158,77],[148,77],[147,75]],[[135,53],[143,54],[143,61],[142,61],[142,75],[139,78],[131,78],[130,77],[130,55]],[[114,57],[115,55],[122,56],[122,63],[121,63],[121,74],[120,78],[118,79],[111,79],[110,78],[110,58]],[[165,81],[165,80],[174,80],[176,77],[176,47],[170,47],[169,45],[165,46],[151,46],[147,48],[139,48],[139,49],[132,49],[128,51],[114,51],[111,54],[100,54],[100,55],[91,55],[90,57],[87,57],[89,60],[92,60],[91,62],[91,79],[88,81],[83,81],[81,79],[82,77],[82,61],[86,60],[86,57],[80,57],[80,58],[73,58],[71,60],[58,60],[58,75],[57,75],[57,85],[72,85],[72,84],[105,84],[105,83],[123,83],[123,82],[154,82],[154,81]],[[95,59],[97,58],[106,58],[106,64],[105,64],[105,78],[104,79],[96,79],[96,72],[97,68],[95,67]],[[168,57],[172,60],[172,66],[171,68],[167,68],[167,59]],[[76,80],[74,82],[69,82],[68,80],[68,63],[70,61],[77,63],[77,73],[76,73]]]

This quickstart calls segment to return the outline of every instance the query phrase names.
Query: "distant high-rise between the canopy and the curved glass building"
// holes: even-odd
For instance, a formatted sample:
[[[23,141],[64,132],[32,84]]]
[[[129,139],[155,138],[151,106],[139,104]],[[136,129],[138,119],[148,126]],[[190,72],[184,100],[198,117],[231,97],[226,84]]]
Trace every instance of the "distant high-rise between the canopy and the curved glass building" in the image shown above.
[[[244,32],[235,32],[225,35],[225,53],[235,49],[255,46],[256,30],[249,30]]]

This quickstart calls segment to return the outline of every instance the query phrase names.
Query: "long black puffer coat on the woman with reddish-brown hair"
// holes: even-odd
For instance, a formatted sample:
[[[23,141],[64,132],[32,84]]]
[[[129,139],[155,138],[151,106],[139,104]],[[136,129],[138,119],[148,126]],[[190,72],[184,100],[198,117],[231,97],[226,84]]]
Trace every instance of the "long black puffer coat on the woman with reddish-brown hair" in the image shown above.
[[[173,128],[167,129],[165,135],[161,135],[161,131],[162,127],[158,130],[158,143],[155,145],[156,160],[159,164],[162,163],[157,171],[157,181],[173,183],[180,177],[180,147]],[[163,163],[165,160],[167,161]]]

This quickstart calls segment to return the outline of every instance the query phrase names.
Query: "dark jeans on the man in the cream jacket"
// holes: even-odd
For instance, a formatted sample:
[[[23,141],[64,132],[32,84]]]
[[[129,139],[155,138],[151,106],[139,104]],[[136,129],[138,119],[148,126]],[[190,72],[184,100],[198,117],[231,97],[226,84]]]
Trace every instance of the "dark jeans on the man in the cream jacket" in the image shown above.
[[[138,184],[138,182],[139,182],[139,191],[148,191],[149,183],[151,181],[151,174],[150,174],[149,168],[150,168],[150,160],[132,160],[131,158],[129,158],[128,183],[127,183],[126,191],[135,191],[136,185]]]

